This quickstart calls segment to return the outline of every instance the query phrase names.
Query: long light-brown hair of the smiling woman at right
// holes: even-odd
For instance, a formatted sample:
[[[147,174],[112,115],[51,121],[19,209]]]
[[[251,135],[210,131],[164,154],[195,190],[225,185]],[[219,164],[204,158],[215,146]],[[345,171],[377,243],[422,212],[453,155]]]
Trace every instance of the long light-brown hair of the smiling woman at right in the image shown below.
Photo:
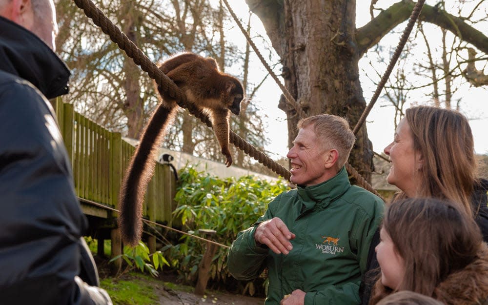
[[[417,197],[433,197],[458,203],[472,214],[470,196],[476,179],[474,142],[468,120],[458,111],[416,106],[405,117],[412,132],[414,150],[424,162]],[[404,199],[400,193],[397,199]]]

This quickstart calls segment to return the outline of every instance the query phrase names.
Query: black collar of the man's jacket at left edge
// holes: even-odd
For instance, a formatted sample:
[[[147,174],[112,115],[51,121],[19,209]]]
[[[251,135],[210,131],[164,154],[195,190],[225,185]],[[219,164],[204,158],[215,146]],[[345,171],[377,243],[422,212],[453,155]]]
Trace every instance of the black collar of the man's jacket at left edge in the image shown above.
[[[68,93],[68,67],[39,37],[3,17],[0,70],[30,81],[48,99]]]

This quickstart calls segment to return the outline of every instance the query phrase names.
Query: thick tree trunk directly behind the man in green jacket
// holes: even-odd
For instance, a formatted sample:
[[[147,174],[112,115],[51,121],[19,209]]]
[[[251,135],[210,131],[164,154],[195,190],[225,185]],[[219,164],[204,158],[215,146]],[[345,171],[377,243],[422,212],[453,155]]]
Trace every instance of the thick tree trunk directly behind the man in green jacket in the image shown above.
[[[309,115],[329,113],[346,118],[354,127],[366,102],[359,82],[356,48],[356,1],[247,0],[263,21],[280,55],[285,85]],[[295,139],[301,119],[282,98],[280,109],[288,118],[288,143]],[[366,126],[357,134],[349,163],[368,181],[372,145]]]

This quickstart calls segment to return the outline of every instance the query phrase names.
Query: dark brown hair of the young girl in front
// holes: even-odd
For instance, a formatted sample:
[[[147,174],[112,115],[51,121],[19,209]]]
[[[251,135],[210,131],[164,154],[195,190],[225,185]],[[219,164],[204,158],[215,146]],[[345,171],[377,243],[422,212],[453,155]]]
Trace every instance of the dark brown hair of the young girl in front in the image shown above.
[[[385,212],[383,228],[405,263],[398,290],[433,296],[447,275],[476,258],[482,235],[472,217],[451,203],[432,198],[410,198],[392,203]],[[370,305],[392,289],[376,281]]]

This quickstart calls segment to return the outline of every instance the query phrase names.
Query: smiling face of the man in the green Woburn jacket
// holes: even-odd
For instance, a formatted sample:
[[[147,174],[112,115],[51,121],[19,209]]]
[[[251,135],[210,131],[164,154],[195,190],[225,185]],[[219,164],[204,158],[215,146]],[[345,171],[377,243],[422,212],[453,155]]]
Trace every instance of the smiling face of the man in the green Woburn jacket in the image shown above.
[[[312,124],[300,129],[293,141],[293,147],[286,154],[291,159],[292,183],[310,186],[330,178],[329,170],[325,168],[326,151],[322,141],[323,139],[317,138]]]

